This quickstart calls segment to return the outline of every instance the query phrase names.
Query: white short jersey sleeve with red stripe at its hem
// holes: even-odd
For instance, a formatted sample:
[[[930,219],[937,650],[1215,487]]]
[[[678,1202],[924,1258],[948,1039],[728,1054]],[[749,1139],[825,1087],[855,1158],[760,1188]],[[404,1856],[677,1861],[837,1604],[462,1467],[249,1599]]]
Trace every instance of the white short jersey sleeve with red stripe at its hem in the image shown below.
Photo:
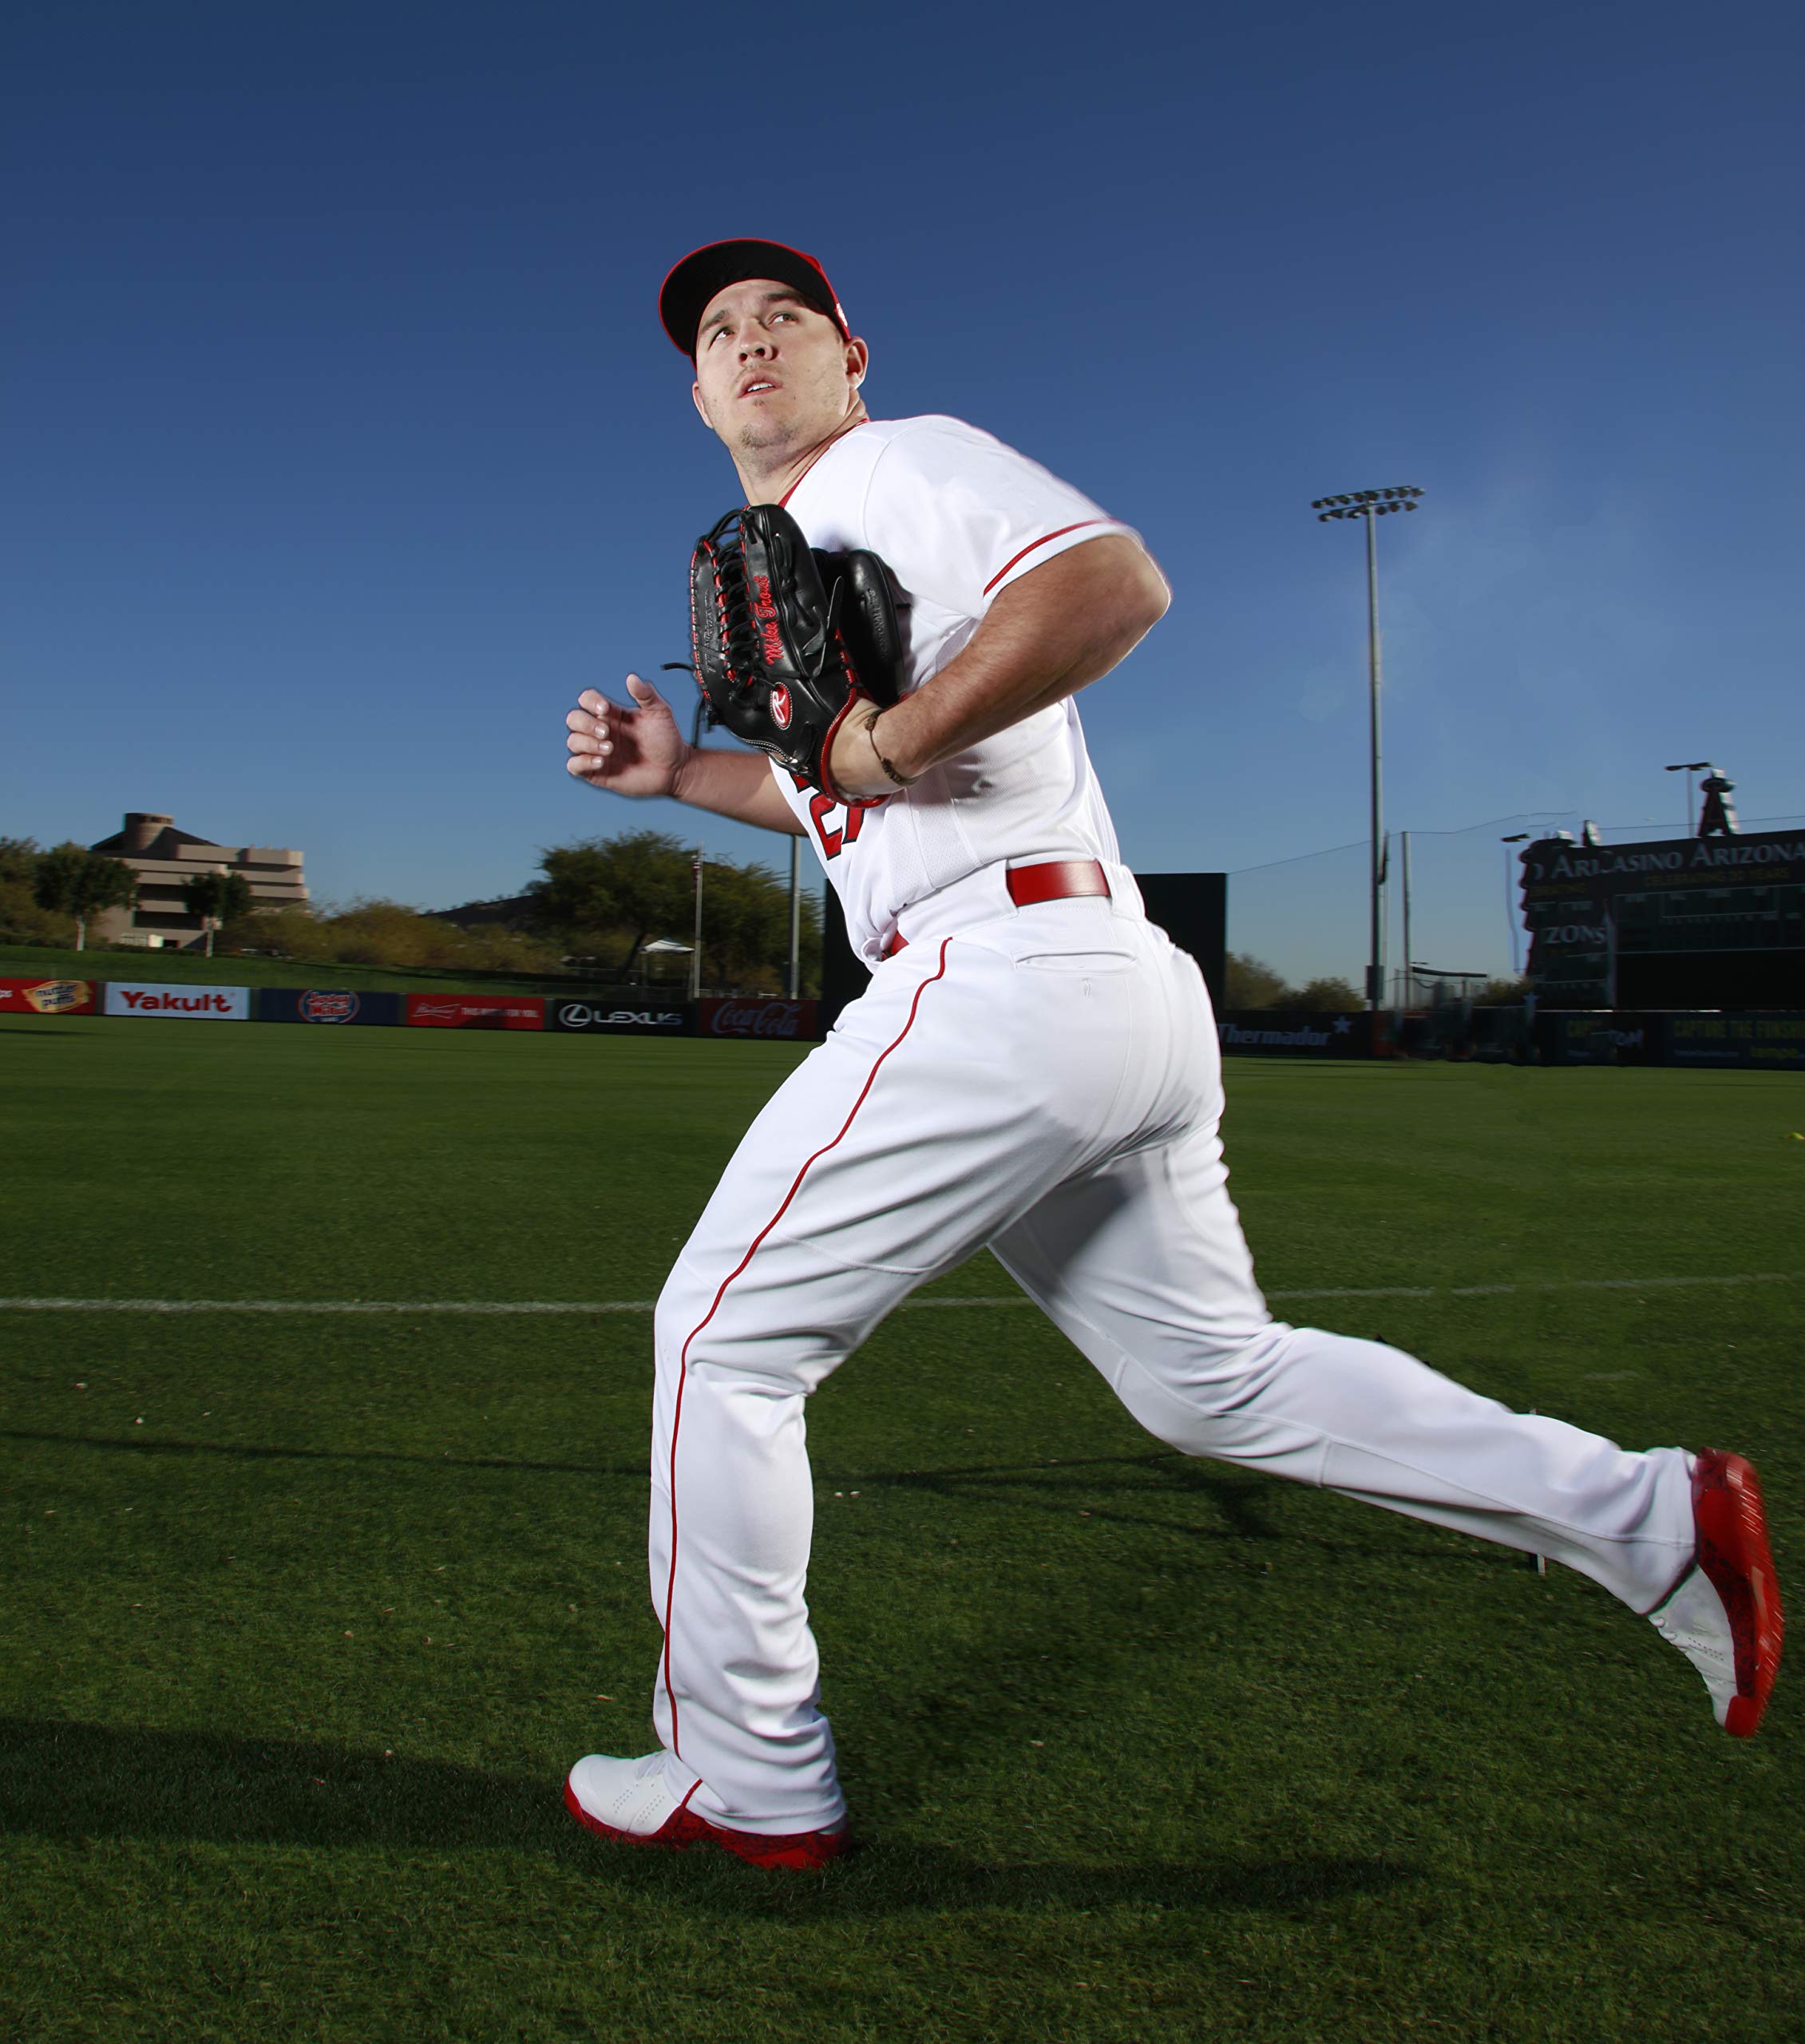
[[[957,419],[922,419],[883,448],[863,525],[910,595],[967,617],[1071,546],[1132,538],[1069,482]]]

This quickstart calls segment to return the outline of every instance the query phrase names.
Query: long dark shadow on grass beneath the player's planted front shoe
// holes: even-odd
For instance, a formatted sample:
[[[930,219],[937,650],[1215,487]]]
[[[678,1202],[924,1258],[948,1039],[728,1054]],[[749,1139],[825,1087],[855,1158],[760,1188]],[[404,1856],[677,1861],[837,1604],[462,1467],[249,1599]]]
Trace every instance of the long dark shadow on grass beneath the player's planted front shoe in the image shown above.
[[[867,1840],[824,1874],[781,1876],[720,1852],[634,1852],[570,1823],[560,1782],[300,1739],[0,1719],[0,1829],[80,1842],[529,1852],[597,1885],[730,1915],[1126,1905],[1296,1913],[1415,1880],[1396,1860],[1298,1852],[1153,1864],[985,1864],[948,1846]]]

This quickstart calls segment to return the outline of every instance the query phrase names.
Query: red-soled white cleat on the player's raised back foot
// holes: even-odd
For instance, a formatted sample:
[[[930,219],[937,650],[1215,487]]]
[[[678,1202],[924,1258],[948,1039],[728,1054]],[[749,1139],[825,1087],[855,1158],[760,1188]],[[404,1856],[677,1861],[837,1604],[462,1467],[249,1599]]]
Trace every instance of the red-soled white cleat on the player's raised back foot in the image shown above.
[[[1707,1447],[1693,1464],[1695,1566],[1650,1619],[1705,1676],[1717,1723],[1748,1739],[1762,1721],[1787,1621],[1754,1464]]]

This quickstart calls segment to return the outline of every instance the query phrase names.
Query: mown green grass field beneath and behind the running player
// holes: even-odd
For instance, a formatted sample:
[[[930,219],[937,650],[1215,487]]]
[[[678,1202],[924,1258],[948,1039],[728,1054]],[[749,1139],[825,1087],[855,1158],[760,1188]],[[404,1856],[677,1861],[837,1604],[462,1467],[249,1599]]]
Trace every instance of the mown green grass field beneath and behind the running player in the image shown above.
[[[619,1308],[0,1312],[0,2034],[1801,2034],[1797,1676],[1729,1741],[1580,1578],[1165,1453],[983,1259],[812,1406],[863,1850],[581,1833],[650,1744],[634,1302],[797,1055],[0,1022],[10,1300]],[[1229,1098],[1278,1310],[1756,1455],[1801,1580],[1797,1077]]]

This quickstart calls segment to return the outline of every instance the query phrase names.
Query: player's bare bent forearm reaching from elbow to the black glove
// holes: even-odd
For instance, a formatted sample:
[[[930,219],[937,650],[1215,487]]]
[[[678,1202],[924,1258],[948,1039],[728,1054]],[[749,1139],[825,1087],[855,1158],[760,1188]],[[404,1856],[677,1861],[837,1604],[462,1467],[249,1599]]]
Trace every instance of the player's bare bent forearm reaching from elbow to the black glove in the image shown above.
[[[1126,658],[1169,601],[1165,576],[1126,533],[1059,554],[1012,583],[965,652],[883,713],[877,730],[883,756],[914,777],[1065,701]],[[869,742],[865,750],[871,752]],[[875,760],[859,764],[875,769]],[[861,779],[848,791],[867,795],[887,787],[885,779]]]

